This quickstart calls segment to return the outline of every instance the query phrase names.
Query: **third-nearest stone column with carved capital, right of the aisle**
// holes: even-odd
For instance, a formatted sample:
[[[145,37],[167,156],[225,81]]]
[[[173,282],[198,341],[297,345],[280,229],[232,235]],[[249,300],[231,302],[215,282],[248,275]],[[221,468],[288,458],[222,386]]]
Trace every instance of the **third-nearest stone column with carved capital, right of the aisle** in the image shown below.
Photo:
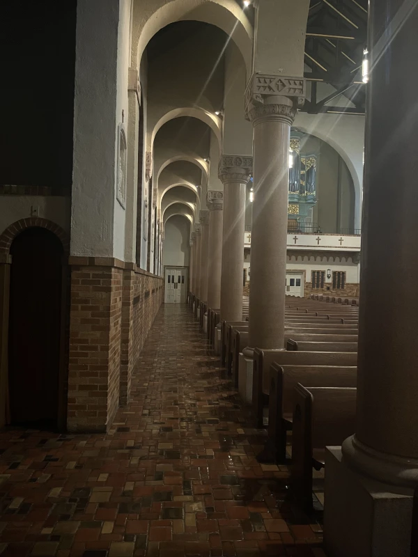
[[[245,193],[252,172],[252,157],[222,155],[219,178],[224,184],[221,319],[242,320],[244,270]]]

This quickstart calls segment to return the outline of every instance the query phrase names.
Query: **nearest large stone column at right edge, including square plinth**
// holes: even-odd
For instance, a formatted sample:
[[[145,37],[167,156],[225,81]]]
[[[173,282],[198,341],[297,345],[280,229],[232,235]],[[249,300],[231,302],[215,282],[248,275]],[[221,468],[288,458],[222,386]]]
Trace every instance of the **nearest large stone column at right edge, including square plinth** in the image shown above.
[[[327,453],[329,555],[353,555],[355,545],[357,555],[410,555],[418,485],[418,75],[410,68],[417,29],[416,2],[388,0],[384,10],[370,2],[357,427],[342,457],[336,448]]]

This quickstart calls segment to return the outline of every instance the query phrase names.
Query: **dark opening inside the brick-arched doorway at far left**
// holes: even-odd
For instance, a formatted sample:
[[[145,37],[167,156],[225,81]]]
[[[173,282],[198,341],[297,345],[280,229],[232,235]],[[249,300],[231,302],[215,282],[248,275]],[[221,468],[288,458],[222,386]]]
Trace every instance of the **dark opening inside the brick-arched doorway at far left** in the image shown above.
[[[28,228],[10,249],[9,423],[57,427],[63,246]]]

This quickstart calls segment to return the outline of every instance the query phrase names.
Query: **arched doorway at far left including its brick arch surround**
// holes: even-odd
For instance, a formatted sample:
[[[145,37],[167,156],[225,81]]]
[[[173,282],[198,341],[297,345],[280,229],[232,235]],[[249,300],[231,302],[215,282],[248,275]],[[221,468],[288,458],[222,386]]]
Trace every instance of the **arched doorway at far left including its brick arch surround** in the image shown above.
[[[21,219],[0,235],[0,328],[4,331],[0,339],[0,425],[10,421],[26,421],[29,417],[43,422],[46,420],[49,425],[58,426],[61,430],[65,428],[69,249],[67,233],[56,223],[39,217]],[[41,304],[39,309],[44,299],[45,304]],[[12,311],[9,311],[9,307]],[[49,312],[48,308],[53,311]],[[44,327],[47,315],[49,318]],[[52,327],[51,334],[49,327]],[[44,357],[40,355],[41,352],[49,353]],[[23,365],[20,359],[26,355],[30,359]],[[42,416],[42,412],[36,416],[39,408],[29,405],[29,414],[26,412],[26,416],[19,416],[19,408],[13,405],[13,381],[9,382],[8,379],[14,380],[16,377],[17,383],[26,388],[26,382],[19,374],[22,370],[31,370],[35,377],[34,370],[42,361],[48,366],[51,363],[49,370],[54,368],[52,381],[48,385],[48,389],[51,387],[55,392],[51,416]],[[40,384],[42,382],[43,379]],[[40,405],[46,404],[33,395],[36,391],[29,389],[29,384],[26,389],[26,393],[32,393],[29,404],[36,400],[39,400]]]

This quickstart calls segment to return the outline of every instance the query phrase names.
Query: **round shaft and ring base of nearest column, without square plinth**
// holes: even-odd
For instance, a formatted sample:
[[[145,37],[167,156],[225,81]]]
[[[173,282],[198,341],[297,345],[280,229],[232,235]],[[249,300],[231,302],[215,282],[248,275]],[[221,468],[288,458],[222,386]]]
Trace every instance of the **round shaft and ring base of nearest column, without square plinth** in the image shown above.
[[[373,478],[415,486],[418,5],[401,4],[375,0],[369,10],[357,429],[343,455]]]

